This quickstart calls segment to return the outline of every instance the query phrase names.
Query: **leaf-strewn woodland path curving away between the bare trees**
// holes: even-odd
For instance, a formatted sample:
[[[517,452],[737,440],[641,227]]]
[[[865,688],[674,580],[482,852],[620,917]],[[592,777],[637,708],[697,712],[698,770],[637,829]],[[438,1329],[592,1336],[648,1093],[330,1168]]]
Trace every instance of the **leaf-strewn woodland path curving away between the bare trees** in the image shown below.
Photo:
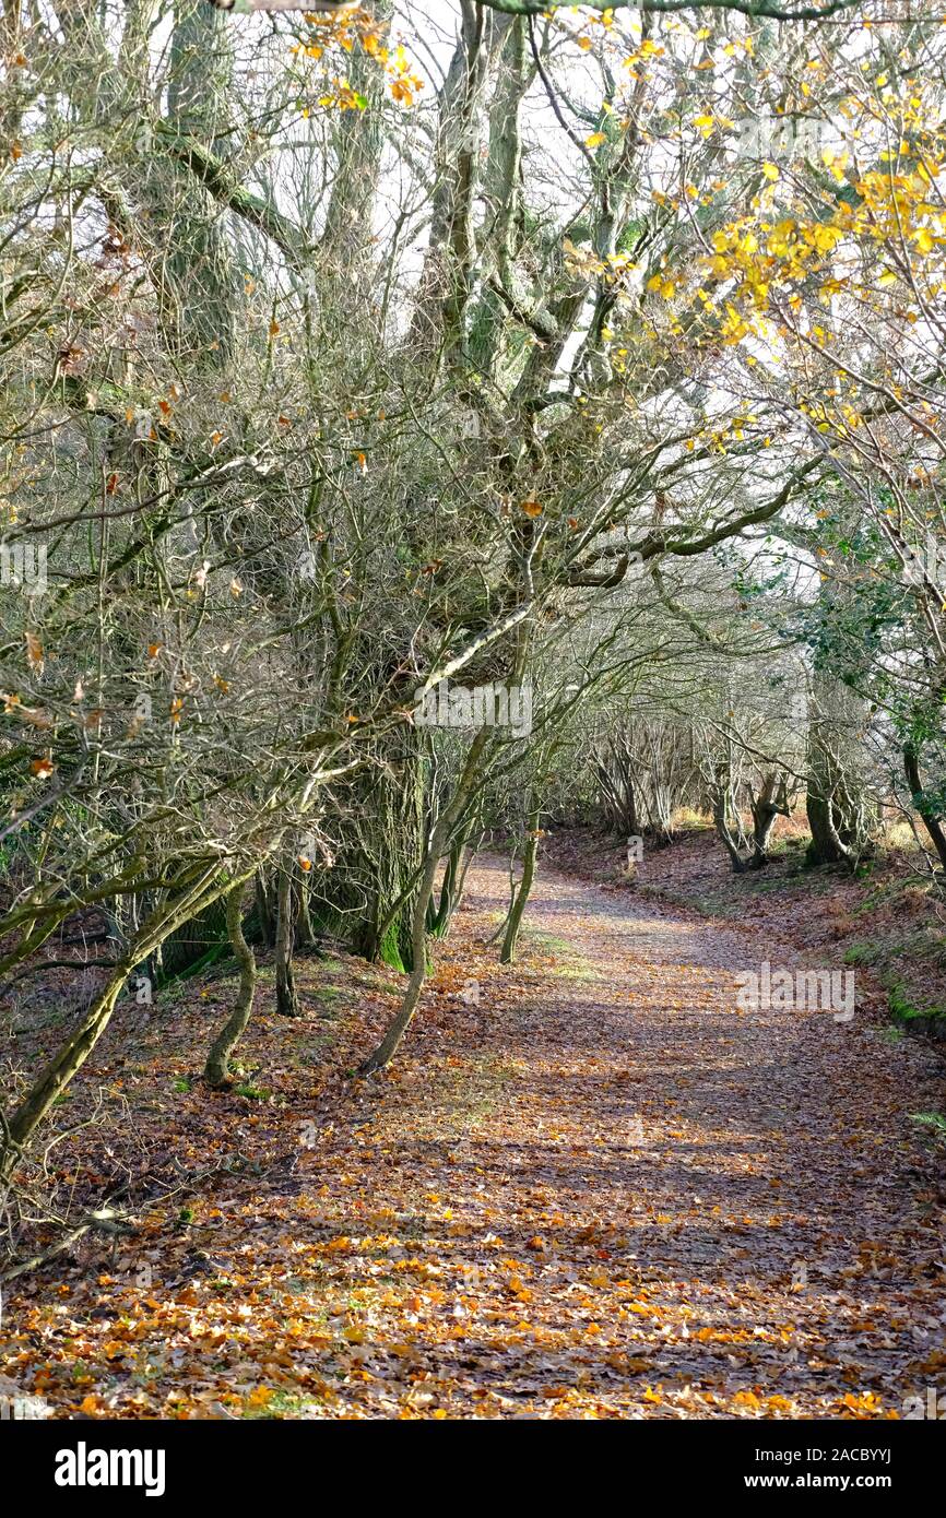
[[[478,978],[481,1040],[421,1017],[320,1155],[371,1196],[320,1213],[346,1345],[323,1413],[902,1416],[943,1383],[943,1193],[910,1119],[941,1107],[938,1057],[741,1013],[735,973],[791,950],[548,868],[500,970],[504,902],[487,861],[437,976]]]

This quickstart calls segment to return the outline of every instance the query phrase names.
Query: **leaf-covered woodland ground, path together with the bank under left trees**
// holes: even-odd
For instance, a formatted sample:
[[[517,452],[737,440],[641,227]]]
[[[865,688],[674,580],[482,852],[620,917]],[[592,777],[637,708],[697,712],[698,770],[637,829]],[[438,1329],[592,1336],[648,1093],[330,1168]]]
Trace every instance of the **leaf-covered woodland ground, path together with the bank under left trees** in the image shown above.
[[[369,1081],[396,985],[355,959],[302,961],[298,1022],[264,972],[229,1093],[193,1079],[226,970],[117,1020],[68,1117],[108,1110],[108,1135],[50,1167],[76,1198],[138,1176],[137,1231],[5,1287],[0,1392],[73,1418],[896,1418],[943,1390],[946,1186],[913,1116],[941,1110],[940,1053],[870,985],[849,1023],[739,1009],[741,970],[811,967],[770,923],[542,864],[503,968],[506,900],[478,862]]]

